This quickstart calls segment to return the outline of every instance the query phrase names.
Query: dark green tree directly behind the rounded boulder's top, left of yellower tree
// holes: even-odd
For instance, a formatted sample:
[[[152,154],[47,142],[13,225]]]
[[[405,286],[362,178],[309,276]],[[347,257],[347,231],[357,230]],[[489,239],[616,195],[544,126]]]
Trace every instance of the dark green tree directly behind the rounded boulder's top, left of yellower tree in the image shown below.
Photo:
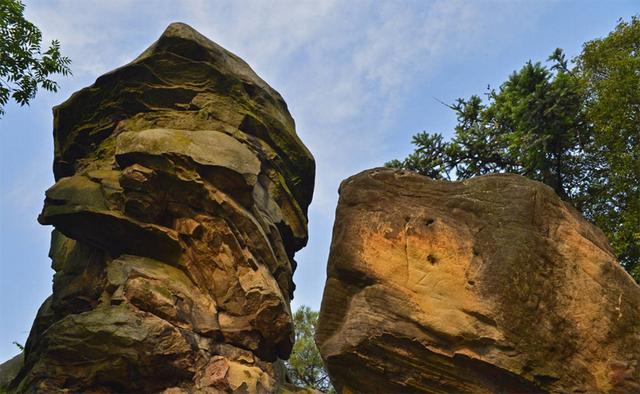
[[[588,129],[583,89],[562,51],[550,60],[551,68],[528,62],[486,94],[487,104],[479,96],[458,99],[450,106],[458,120],[451,141],[419,133],[416,150],[387,165],[445,179],[514,172],[545,182],[563,198],[578,197]]]

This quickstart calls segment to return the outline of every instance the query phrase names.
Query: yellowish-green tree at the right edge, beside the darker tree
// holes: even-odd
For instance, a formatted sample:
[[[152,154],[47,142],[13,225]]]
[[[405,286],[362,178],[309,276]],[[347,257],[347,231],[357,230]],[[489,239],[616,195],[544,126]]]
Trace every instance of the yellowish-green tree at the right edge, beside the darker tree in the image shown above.
[[[588,93],[592,156],[602,176],[588,214],[609,236],[622,265],[640,282],[640,19],[618,21],[589,41],[577,60]]]

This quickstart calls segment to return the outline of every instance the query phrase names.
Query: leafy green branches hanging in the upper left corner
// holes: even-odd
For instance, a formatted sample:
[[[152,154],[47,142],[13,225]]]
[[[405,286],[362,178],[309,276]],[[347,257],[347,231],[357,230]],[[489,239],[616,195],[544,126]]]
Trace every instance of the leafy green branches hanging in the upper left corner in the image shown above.
[[[52,74],[71,73],[69,58],[60,53],[56,40],[42,52],[42,33],[24,16],[24,4],[18,0],[0,0],[0,116],[10,98],[20,105],[29,104],[41,87],[57,92]]]

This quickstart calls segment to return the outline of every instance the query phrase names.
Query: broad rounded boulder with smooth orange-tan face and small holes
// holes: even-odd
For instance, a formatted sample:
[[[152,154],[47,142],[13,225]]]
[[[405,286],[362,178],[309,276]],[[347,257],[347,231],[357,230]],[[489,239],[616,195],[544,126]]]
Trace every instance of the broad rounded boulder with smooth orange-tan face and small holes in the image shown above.
[[[640,287],[551,188],[340,187],[316,342],[339,392],[640,392]]]

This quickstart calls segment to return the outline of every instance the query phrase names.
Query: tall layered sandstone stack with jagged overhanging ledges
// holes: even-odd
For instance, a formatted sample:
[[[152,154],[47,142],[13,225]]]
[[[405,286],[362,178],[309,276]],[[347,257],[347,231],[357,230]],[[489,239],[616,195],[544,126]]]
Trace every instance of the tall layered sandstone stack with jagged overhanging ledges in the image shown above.
[[[18,392],[286,391],[313,157],[282,97],[171,24],[54,109],[53,294]]]

